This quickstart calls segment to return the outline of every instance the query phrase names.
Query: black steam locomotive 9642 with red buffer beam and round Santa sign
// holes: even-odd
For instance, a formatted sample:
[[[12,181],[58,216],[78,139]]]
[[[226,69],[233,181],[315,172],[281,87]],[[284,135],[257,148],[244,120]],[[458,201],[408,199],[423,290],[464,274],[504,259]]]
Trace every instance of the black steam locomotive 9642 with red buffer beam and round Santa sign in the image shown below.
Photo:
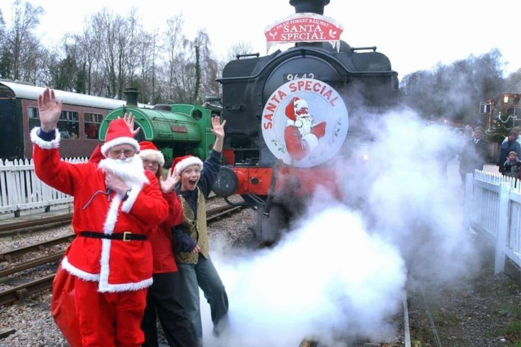
[[[294,16],[322,15],[328,3],[290,0]],[[230,165],[221,169],[214,191],[225,198],[240,194],[242,204],[253,205],[256,234],[267,242],[297,216],[295,207],[317,182],[338,192],[328,168],[369,136],[366,112],[379,113],[398,100],[398,74],[389,59],[376,47],[344,41],[339,49],[298,42],[263,57],[237,56],[218,81]]]

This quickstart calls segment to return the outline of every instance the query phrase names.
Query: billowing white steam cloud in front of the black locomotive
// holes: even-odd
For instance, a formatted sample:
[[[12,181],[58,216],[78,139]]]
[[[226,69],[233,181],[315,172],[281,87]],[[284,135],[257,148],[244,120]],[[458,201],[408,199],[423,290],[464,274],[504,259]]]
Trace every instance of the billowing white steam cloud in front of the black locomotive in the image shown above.
[[[444,174],[458,139],[409,111],[374,124],[369,161],[346,159],[324,177],[344,177],[342,199],[317,194],[273,249],[233,259],[212,251],[231,329],[212,337],[201,295],[205,345],[389,341],[408,274],[428,285],[465,272],[473,252],[462,230],[461,191]]]

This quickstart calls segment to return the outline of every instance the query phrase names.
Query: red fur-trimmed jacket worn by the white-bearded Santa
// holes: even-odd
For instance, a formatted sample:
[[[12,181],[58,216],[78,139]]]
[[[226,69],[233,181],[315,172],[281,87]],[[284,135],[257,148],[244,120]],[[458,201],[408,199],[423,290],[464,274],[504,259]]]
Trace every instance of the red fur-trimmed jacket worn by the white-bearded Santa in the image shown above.
[[[116,192],[106,195],[105,174],[96,163],[71,164],[60,160],[57,138],[46,142],[35,128],[31,132],[36,175],[46,184],[74,197],[72,227],[82,231],[116,234],[150,234],[168,215],[157,179],[145,172],[148,182],[133,185],[126,201]],[[98,281],[98,291],[138,290],[152,284],[150,241],[123,241],[77,237],[61,262],[81,279]]]

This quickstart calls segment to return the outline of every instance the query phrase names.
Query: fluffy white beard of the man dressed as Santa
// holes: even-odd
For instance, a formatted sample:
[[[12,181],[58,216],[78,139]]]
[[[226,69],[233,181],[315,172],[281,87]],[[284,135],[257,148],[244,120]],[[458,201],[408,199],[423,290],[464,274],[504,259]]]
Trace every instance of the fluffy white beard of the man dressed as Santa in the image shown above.
[[[150,183],[143,169],[143,161],[138,155],[124,160],[105,158],[98,164],[98,169],[113,173],[131,187],[142,187],[144,183]]]

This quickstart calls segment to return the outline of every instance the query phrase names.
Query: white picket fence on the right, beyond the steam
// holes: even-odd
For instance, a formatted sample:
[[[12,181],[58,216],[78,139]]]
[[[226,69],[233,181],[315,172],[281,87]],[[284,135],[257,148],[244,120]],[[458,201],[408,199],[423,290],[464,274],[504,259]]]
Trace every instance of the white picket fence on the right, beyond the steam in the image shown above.
[[[521,266],[521,182],[479,170],[465,182],[464,227],[495,243],[495,273],[503,272],[505,256]]]

